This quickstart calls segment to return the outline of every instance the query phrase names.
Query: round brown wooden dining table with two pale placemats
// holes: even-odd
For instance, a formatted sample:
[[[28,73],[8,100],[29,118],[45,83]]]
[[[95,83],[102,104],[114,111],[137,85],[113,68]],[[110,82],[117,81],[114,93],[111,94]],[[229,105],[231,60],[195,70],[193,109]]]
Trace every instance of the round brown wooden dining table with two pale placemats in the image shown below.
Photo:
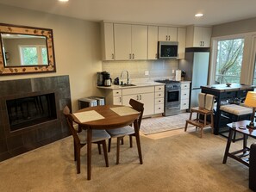
[[[139,113],[133,115],[118,115],[110,108],[124,107],[120,105],[102,105],[91,108],[83,108],[78,110],[78,113],[85,111],[96,111],[98,114],[103,116],[103,119],[95,120],[95,121],[86,121],[81,122],[78,118],[73,115],[74,120],[78,125],[80,125],[83,129],[87,130],[87,179],[91,180],[91,130],[92,129],[113,129],[119,127],[125,127],[134,123],[134,132],[136,137],[136,143],[140,158],[140,164],[143,164],[142,161],[142,153],[140,148],[140,134],[138,127],[138,118],[140,116]],[[129,107],[127,107],[129,108]],[[77,114],[77,113],[76,113]]]

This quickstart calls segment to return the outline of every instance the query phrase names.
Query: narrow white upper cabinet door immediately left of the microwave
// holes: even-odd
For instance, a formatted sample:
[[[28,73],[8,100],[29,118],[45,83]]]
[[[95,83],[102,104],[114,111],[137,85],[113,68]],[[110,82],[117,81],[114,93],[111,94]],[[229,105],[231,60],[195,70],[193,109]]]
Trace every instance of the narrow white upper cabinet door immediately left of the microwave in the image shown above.
[[[159,28],[147,27],[147,59],[158,59]]]

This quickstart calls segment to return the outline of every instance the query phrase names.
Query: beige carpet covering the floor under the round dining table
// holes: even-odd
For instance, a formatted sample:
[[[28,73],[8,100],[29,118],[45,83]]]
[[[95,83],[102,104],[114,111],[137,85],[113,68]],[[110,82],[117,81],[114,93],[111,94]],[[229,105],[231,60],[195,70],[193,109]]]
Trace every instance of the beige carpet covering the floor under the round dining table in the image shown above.
[[[86,147],[78,175],[68,137],[1,162],[0,191],[250,191],[248,168],[230,158],[222,164],[226,139],[209,132],[205,130],[203,139],[196,132],[156,140],[140,137],[144,164],[139,164],[136,145],[129,148],[128,137],[118,165],[113,140],[108,168],[93,145],[91,181],[86,180]],[[232,143],[231,148],[241,145],[240,141]]]

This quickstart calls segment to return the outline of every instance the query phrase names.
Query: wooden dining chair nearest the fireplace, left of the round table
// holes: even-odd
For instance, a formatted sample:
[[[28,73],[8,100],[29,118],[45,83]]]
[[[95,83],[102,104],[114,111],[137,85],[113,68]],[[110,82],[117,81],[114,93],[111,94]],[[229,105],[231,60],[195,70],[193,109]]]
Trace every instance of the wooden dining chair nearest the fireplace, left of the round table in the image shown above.
[[[68,127],[70,128],[70,131],[73,136],[73,142],[74,142],[74,160],[77,161],[77,173],[80,173],[80,151],[83,146],[87,143],[87,131],[82,130],[81,126],[78,125],[78,131],[73,127],[73,116],[70,113],[70,109],[66,106],[63,109],[63,114],[66,117],[66,121],[68,124]],[[101,146],[103,145],[103,153],[105,158],[106,167],[109,167],[109,159],[108,159],[108,152],[107,152],[107,145],[106,145],[106,139],[109,139],[110,135],[105,130],[92,130],[92,138],[91,143],[96,143],[98,146],[99,154],[101,154]]]

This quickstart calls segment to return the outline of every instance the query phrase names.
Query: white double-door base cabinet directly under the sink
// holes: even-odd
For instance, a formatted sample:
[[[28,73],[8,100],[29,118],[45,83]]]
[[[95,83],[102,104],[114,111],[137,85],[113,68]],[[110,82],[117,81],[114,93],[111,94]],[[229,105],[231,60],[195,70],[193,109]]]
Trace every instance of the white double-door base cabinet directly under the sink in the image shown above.
[[[122,104],[129,106],[130,99],[144,103],[143,115],[154,114],[154,86],[122,90]]]

